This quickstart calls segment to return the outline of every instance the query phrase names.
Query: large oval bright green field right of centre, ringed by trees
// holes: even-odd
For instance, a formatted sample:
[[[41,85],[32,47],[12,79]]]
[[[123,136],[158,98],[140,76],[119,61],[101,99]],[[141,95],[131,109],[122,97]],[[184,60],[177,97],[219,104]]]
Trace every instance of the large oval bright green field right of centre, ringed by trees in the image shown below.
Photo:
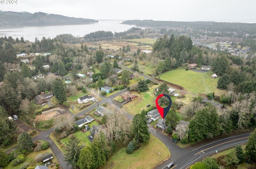
[[[212,74],[212,72],[198,73],[192,70],[171,70],[161,74],[160,79],[180,85],[190,93],[207,94],[214,92],[215,95],[226,93],[225,90],[217,89],[218,78],[212,79]]]

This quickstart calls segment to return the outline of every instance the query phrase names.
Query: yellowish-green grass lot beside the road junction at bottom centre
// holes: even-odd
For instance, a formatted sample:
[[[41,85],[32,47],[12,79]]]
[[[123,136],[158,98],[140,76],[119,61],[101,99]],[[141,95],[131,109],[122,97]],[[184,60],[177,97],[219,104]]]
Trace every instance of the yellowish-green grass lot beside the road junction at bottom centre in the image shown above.
[[[160,154],[158,154],[158,152]],[[126,147],[120,149],[101,169],[153,169],[164,159],[170,157],[170,151],[159,140],[150,134],[150,141],[132,154],[126,153]]]

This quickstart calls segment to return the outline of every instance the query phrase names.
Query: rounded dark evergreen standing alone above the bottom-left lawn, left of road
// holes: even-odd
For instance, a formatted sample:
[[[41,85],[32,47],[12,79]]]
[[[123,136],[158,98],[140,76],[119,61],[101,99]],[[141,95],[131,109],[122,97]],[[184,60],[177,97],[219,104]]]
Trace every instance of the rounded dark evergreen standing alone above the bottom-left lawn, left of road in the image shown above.
[[[31,152],[32,148],[34,147],[32,138],[30,135],[28,135],[28,133],[26,131],[22,131],[22,133],[20,133],[20,135],[17,139],[17,145],[18,145],[17,148],[20,151],[27,150],[27,151]]]

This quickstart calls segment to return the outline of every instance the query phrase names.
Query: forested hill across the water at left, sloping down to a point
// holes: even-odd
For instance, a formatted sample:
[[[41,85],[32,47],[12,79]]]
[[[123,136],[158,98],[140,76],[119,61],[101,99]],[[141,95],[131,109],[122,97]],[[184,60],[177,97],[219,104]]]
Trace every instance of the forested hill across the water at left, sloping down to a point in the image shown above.
[[[93,19],[73,18],[56,14],[36,12],[4,12],[0,11],[0,28],[11,26],[52,26],[76,25],[98,22]]]

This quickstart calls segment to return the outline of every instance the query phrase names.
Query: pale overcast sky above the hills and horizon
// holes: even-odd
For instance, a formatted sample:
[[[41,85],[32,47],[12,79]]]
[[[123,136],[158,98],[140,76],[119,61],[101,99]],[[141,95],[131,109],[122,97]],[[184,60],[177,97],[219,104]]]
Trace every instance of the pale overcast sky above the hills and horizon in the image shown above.
[[[4,0],[5,3],[7,0]],[[256,0],[17,0],[2,11],[45,12],[95,20],[256,23]],[[1,1],[2,3],[2,1]]]

